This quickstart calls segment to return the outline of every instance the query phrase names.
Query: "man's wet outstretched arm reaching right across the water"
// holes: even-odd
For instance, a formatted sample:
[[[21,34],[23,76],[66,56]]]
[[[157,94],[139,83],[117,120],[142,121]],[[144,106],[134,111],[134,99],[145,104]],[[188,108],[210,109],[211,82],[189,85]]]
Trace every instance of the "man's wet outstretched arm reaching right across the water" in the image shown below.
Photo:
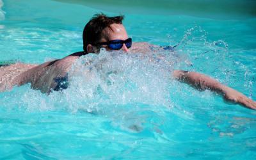
[[[242,106],[250,109],[256,109],[256,102],[249,99],[243,93],[237,92],[236,90],[225,86],[211,77],[205,76],[204,74],[199,74],[197,72],[188,72],[184,70],[175,70],[173,72],[173,77],[176,80],[187,83],[197,90],[211,90],[220,94],[223,99],[229,102],[234,102],[241,104]]]

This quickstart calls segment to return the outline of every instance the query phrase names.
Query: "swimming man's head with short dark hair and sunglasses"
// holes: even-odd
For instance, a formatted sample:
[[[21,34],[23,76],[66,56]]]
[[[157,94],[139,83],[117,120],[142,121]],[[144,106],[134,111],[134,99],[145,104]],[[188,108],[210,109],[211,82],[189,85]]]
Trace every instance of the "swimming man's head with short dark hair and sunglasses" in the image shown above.
[[[84,27],[83,44],[84,52],[98,53],[100,48],[104,47],[106,50],[123,49],[125,52],[131,47],[128,42],[127,32],[122,24],[124,16],[108,17],[104,14],[95,15]],[[121,40],[121,46],[113,46],[111,48],[109,42],[113,40]],[[126,40],[126,41],[125,41]],[[124,42],[124,43],[123,43]]]

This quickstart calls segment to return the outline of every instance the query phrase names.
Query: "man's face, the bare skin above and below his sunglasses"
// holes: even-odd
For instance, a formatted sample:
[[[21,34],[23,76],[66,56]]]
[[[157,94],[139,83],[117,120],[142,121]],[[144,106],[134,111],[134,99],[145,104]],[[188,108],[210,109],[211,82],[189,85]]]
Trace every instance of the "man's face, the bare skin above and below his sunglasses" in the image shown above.
[[[108,42],[110,40],[127,40],[128,35],[127,32],[122,24],[111,24],[110,28],[105,28],[102,30],[102,37],[99,42]],[[106,48],[107,51],[110,51],[108,45],[101,45],[101,47]],[[99,52],[96,47],[92,48],[94,52]],[[128,52],[129,49],[126,47],[125,44],[122,46],[122,50],[124,52]]]

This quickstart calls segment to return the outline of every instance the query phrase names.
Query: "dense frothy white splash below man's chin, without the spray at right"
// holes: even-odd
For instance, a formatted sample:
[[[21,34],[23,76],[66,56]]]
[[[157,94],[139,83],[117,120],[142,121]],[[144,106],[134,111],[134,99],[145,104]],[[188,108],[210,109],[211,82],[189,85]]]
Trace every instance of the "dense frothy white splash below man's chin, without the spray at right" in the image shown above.
[[[179,61],[173,54],[88,54],[79,58],[68,72],[67,90],[45,95],[28,89],[27,84],[5,93],[1,104],[27,113],[64,111],[97,115],[126,131],[141,132],[148,127],[161,132],[157,129],[158,120],[173,108],[170,92],[175,84],[171,75]]]

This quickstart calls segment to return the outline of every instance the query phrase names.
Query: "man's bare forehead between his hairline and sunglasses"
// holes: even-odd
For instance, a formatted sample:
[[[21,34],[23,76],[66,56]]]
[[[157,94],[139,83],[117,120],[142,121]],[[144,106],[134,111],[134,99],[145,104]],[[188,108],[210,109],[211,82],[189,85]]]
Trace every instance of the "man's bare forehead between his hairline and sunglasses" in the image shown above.
[[[128,35],[122,24],[111,24],[102,30],[102,40],[126,40]]]

